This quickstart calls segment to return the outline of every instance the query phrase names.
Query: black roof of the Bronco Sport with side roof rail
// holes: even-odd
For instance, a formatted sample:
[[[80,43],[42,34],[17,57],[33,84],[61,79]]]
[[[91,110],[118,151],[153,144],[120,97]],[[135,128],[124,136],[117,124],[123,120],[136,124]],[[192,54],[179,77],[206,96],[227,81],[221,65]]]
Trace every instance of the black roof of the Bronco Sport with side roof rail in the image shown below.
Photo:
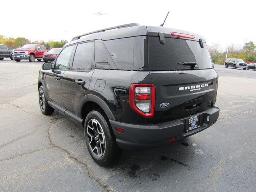
[[[131,26],[128,26],[131,25]],[[190,34],[193,35],[195,38],[194,40],[199,40],[204,38],[196,33],[188,32],[184,30],[174,29],[174,28],[166,28],[161,26],[144,26],[144,25],[138,25],[138,24],[126,24],[122,25],[125,27],[118,28],[119,26],[98,30],[96,32],[91,32],[88,34],[83,34],[81,36],[76,36],[72,39],[72,41],[68,42],[66,45],[74,44],[77,42],[82,41],[89,41],[89,40],[95,40],[95,39],[102,39],[102,40],[111,40],[111,39],[118,39],[118,38],[127,38],[127,37],[134,37],[134,36],[146,36],[150,33],[165,33],[170,34],[170,32],[177,32],[182,34]]]

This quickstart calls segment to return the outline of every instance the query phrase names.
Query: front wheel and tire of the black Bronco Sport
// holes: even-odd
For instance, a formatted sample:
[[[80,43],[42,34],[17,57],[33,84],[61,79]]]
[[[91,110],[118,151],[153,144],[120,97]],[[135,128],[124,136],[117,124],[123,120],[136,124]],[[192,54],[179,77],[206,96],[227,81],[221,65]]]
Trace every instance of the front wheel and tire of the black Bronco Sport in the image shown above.
[[[39,107],[40,107],[40,110],[41,110],[42,114],[44,114],[44,115],[51,115],[51,114],[53,114],[54,108],[52,108],[48,104],[48,102],[47,102],[48,100],[46,98],[43,86],[40,86],[40,88],[38,90],[38,99],[39,99]]]

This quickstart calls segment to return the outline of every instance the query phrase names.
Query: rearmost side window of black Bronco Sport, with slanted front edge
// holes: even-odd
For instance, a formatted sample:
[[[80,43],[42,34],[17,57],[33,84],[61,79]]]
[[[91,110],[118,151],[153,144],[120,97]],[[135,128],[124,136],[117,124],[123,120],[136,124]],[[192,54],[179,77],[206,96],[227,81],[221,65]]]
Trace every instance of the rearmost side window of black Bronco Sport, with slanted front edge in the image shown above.
[[[104,41],[116,67],[123,70],[134,69],[134,38],[122,38]]]

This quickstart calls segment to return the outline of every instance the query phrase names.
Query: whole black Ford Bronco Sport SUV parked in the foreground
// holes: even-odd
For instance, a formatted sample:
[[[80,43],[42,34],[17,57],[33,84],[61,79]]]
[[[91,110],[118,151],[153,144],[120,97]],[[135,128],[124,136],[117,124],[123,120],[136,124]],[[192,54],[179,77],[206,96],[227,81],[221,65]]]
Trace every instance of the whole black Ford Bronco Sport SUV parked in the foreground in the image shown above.
[[[202,36],[138,24],[74,37],[38,78],[42,113],[55,109],[82,126],[102,166],[122,149],[157,147],[214,124],[217,87]]]

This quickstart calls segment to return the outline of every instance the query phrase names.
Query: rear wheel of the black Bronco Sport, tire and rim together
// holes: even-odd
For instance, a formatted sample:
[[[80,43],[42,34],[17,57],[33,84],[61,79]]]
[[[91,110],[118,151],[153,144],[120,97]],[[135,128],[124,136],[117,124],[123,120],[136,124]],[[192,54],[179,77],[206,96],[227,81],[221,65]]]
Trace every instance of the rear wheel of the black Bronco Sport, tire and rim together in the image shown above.
[[[97,124],[97,129],[90,129],[88,124],[90,127],[94,127],[94,125]],[[96,132],[98,132],[98,134]],[[98,139],[96,139],[97,136]],[[86,140],[86,146],[92,159],[100,166],[110,166],[120,158],[122,149],[120,149],[116,143],[116,138],[112,132],[108,118],[100,110],[93,110],[86,116],[84,122],[84,137]],[[101,143],[102,140],[104,143]],[[101,144],[104,145],[102,146]],[[101,156],[98,154],[96,146],[98,146]]]

